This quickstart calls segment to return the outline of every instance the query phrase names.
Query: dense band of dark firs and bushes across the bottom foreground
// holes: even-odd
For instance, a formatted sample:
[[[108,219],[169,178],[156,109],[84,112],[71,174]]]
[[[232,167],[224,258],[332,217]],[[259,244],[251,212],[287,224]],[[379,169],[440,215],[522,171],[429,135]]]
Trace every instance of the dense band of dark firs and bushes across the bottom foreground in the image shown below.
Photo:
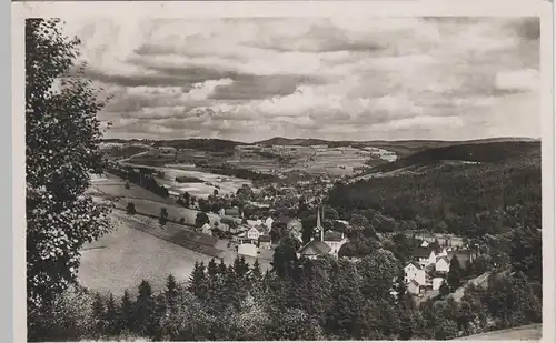
[[[520,263],[539,256],[527,242],[520,255],[512,248],[510,268],[486,286],[469,286],[461,301],[444,294],[420,305],[391,252],[376,249],[357,262],[299,260],[296,242],[285,239],[265,273],[242,258],[211,260],[196,263],[185,284],[170,275],[161,292],[147,281],[137,296],[121,299],[67,292],[44,307],[48,315],[29,314],[29,341],[449,340],[542,321],[538,275]]]

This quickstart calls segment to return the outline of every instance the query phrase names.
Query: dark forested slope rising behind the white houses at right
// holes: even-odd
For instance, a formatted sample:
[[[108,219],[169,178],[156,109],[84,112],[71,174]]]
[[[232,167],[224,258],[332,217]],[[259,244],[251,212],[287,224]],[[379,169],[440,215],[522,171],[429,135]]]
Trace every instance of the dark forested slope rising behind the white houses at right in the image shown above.
[[[540,159],[532,157],[338,183],[328,204],[342,219],[366,216],[377,232],[426,229],[477,238],[517,223],[540,228]]]

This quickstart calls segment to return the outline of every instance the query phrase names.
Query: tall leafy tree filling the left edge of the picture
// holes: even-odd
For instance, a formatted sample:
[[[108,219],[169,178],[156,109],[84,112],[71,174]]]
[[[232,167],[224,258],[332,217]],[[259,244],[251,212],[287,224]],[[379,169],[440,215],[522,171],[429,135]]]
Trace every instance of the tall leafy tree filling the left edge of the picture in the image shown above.
[[[67,79],[79,40],[59,20],[26,20],[26,216],[28,307],[44,306],[75,282],[79,249],[110,229],[108,204],[85,194],[102,172],[105,107],[91,82]],[[79,73],[80,71],[78,71]],[[59,81],[59,82],[58,82]]]

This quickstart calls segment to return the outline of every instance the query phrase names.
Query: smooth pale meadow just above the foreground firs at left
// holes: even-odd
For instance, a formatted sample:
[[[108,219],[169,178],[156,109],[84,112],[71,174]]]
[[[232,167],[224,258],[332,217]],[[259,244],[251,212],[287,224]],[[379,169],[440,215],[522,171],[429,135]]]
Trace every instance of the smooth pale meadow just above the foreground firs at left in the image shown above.
[[[100,292],[110,291],[121,296],[127,289],[135,292],[145,279],[158,291],[163,289],[168,274],[172,273],[179,281],[187,282],[195,262],[208,263],[212,259],[209,254],[169,242],[180,241],[180,225],[168,223],[163,230],[157,228],[156,221],[141,215],[131,216],[116,212],[112,218],[115,230],[87,244],[81,251],[79,281],[86,287]],[[159,236],[141,230],[141,226],[148,223],[151,224],[148,231],[156,231]],[[181,230],[181,233],[189,239],[187,230]],[[205,251],[218,253],[225,263],[232,263],[237,253],[226,250],[227,242],[216,239],[210,241],[216,242],[215,248]],[[255,262],[252,258],[245,259],[250,264]],[[265,259],[259,259],[259,263],[264,271],[270,266],[270,261]]]

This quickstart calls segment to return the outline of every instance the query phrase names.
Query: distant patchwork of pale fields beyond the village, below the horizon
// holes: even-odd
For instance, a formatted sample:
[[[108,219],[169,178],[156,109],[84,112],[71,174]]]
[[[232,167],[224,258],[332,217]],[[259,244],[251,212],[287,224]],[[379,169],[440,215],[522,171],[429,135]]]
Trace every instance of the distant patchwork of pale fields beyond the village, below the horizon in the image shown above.
[[[246,180],[228,178],[228,182],[218,181],[221,175],[205,173],[191,167],[196,161],[211,161],[209,164],[228,163],[229,165],[248,169],[261,173],[275,171],[304,171],[310,174],[351,175],[357,169],[366,167],[371,160],[376,164],[387,163],[396,159],[395,151],[371,147],[334,147],[325,145],[237,145],[227,153],[199,151],[196,149],[159,149],[151,148],[127,160],[129,165],[151,167],[168,172],[165,185],[177,192],[188,191],[195,196],[207,196],[215,190],[205,184],[181,186],[176,184],[176,175],[199,178],[212,184],[218,184],[221,192],[230,193],[237,190],[238,182]],[[375,164],[375,163],[374,163]],[[240,186],[241,184],[239,184]],[[219,190],[219,192],[220,192]]]

